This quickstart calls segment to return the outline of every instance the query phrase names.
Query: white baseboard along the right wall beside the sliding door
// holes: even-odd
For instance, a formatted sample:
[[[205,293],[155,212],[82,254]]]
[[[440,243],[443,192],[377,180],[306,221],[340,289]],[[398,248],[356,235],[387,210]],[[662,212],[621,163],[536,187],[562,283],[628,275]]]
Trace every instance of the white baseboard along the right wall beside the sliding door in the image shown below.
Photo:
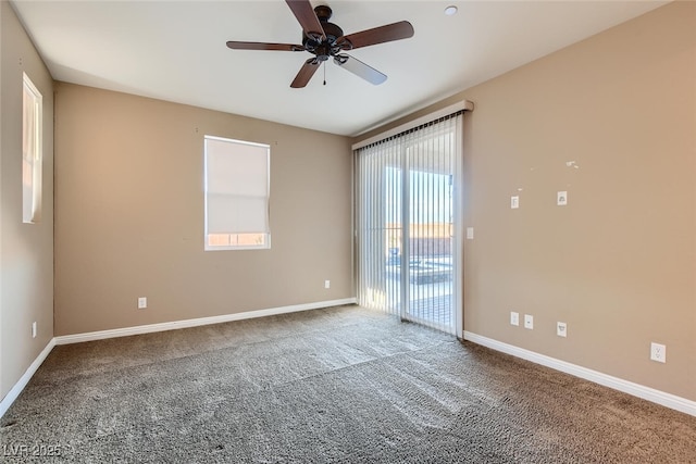
[[[654,388],[645,387],[639,384],[634,384],[632,381],[602,374],[597,371],[588,369],[586,367],[571,364],[566,361],[557,360],[545,354],[535,353],[534,351],[525,350],[513,344],[504,343],[501,341],[472,334],[467,330],[464,330],[464,340],[473,341],[474,343],[490,348],[493,350],[511,354],[513,356],[521,358],[523,360],[531,361],[533,363],[563,372],[566,374],[574,375],[575,377],[584,378],[585,380],[594,381],[595,384],[604,385],[605,387],[613,388],[614,390],[623,391],[624,393],[629,393],[657,404],[661,404],[672,410],[681,411],[683,413],[696,416],[696,401],[687,400],[685,398],[656,390]]]

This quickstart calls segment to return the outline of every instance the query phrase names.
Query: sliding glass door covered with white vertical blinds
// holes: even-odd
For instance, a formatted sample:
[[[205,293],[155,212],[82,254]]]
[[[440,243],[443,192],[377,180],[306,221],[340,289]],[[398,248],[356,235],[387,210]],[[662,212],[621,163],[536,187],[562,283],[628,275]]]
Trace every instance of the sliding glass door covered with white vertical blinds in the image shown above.
[[[358,301],[461,335],[461,114],[357,151]]]

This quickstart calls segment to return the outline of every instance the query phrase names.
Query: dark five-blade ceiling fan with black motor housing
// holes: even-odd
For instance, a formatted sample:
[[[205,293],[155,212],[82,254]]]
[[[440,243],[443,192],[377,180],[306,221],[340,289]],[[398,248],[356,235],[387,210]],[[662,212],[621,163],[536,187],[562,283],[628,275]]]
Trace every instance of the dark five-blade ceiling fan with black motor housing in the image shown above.
[[[227,42],[227,47],[233,50],[308,51],[312,53],[314,57],[304,62],[300,72],[295,76],[295,80],[290,84],[293,88],[307,86],[319,66],[330,58],[333,58],[334,63],[338,66],[369,83],[382,84],[387,79],[385,74],[346,54],[345,51],[413,37],[413,26],[408,21],[345,36],[340,27],[328,22],[332,16],[331,8],[319,5],[312,9],[309,0],[286,0],[286,3],[302,26],[302,45],[231,40]]]

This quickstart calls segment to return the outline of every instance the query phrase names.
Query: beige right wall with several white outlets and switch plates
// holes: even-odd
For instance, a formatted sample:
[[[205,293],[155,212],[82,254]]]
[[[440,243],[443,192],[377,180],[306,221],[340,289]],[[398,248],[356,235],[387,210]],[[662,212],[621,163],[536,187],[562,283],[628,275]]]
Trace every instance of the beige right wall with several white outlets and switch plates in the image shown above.
[[[696,400],[694,25],[668,4],[419,113],[475,103],[465,330]]]

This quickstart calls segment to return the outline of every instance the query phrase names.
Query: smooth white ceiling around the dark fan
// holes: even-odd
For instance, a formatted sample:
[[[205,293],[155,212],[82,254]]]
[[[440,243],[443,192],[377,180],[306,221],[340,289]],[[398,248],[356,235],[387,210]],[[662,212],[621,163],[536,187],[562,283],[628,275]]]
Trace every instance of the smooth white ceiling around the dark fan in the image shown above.
[[[388,76],[373,86],[333,62],[303,89],[308,52],[231,50],[227,40],[300,43],[282,0],[35,1],[13,4],[58,80],[357,135],[666,1],[312,1],[352,34],[409,21],[410,39],[353,50]],[[446,16],[448,4],[459,13]]]

